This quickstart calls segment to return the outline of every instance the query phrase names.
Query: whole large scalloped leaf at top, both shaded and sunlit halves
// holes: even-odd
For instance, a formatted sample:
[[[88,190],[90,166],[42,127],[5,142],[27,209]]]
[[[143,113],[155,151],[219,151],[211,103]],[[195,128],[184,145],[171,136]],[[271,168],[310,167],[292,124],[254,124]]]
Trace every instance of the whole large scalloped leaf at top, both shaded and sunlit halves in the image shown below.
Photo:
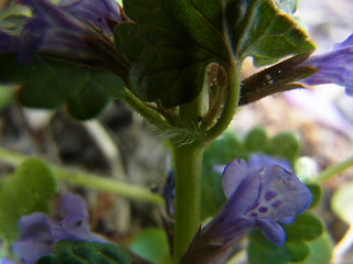
[[[131,89],[164,107],[193,100],[211,62],[227,66],[252,55],[263,65],[313,48],[269,0],[125,0],[124,9],[133,23],[118,25],[115,40],[135,64]]]

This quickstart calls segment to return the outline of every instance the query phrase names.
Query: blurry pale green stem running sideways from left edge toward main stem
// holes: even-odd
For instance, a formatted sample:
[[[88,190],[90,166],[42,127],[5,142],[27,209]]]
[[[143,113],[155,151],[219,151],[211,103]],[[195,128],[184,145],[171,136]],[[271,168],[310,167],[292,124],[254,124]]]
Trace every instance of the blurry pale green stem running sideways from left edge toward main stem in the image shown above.
[[[11,166],[19,166],[28,156],[20,155],[0,147],[0,161]],[[101,191],[108,191],[138,201],[162,206],[164,200],[161,196],[151,193],[150,189],[108,178],[107,176],[89,174],[76,169],[67,169],[45,162],[57,179],[81,187],[88,187]]]

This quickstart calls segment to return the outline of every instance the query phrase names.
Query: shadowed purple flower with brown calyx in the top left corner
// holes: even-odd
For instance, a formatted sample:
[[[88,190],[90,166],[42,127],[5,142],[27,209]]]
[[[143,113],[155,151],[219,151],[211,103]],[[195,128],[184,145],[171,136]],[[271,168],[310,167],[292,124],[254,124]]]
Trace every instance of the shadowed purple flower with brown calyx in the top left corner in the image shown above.
[[[118,56],[111,29],[122,22],[115,0],[19,0],[33,10],[19,36],[0,31],[0,54],[18,53],[30,63],[36,52],[110,72],[126,66]]]

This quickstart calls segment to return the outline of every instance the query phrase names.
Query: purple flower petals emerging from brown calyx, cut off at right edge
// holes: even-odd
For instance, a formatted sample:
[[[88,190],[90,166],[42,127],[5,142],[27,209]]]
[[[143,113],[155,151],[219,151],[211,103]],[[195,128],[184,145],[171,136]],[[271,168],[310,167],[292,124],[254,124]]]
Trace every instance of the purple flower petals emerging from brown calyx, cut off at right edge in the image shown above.
[[[353,96],[353,34],[344,42],[335,44],[333,51],[311,56],[301,65],[319,69],[317,74],[301,82],[307,85],[336,84],[345,87],[349,96]]]

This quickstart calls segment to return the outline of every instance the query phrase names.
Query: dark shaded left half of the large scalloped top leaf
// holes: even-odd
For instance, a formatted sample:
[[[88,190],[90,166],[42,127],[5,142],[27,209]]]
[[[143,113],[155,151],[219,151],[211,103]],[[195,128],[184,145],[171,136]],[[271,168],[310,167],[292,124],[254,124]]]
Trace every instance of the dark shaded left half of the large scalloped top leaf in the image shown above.
[[[117,26],[115,38],[137,63],[130,82],[139,98],[164,107],[186,103],[200,94],[206,65],[227,61],[221,1],[126,0],[124,9],[136,23]]]

